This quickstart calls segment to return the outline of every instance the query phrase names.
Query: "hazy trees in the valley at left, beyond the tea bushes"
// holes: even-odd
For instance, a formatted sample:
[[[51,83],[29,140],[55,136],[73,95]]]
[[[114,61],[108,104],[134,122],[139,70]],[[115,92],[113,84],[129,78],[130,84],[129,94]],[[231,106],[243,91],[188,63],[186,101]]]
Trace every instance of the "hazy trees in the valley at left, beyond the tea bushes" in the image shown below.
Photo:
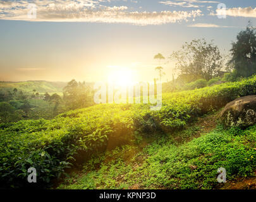
[[[72,80],[58,93],[23,92],[17,88],[0,90],[0,123],[22,119],[52,119],[60,113],[94,105],[92,85]]]

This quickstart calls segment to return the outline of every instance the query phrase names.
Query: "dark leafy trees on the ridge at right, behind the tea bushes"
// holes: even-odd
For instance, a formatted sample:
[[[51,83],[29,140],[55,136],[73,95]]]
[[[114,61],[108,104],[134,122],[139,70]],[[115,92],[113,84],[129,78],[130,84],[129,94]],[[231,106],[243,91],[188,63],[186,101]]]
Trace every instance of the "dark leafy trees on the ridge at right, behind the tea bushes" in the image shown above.
[[[214,43],[192,40],[173,52],[178,77],[163,83],[163,92],[193,90],[225,81],[239,81],[256,73],[256,33],[251,23],[232,42],[229,56],[223,56]]]

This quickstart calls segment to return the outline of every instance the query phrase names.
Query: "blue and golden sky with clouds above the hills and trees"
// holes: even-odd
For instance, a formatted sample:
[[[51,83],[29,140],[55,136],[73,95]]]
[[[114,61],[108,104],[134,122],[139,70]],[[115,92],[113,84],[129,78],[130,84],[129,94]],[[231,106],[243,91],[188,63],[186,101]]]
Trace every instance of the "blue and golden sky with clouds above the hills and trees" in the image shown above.
[[[219,3],[226,18],[217,17]],[[36,18],[27,15],[34,5]],[[255,7],[253,0],[0,1],[0,80],[97,81],[116,69],[152,80],[154,55],[168,57],[192,39],[214,40],[228,53],[248,20],[256,25]],[[173,61],[162,66],[171,80]]]

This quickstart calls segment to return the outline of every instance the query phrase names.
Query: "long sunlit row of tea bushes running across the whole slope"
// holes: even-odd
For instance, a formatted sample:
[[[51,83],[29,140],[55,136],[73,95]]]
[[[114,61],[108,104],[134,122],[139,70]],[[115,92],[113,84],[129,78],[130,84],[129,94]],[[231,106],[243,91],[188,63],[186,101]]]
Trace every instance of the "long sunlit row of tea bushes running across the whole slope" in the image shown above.
[[[200,114],[219,109],[239,96],[255,95],[255,86],[256,76],[253,76],[234,83],[166,93],[162,97],[162,108],[158,111],[150,111],[150,105],[143,104],[101,104],[71,110],[51,121],[40,119],[2,124],[0,184],[11,186],[16,185],[14,182],[17,181],[26,183],[25,173],[31,165],[39,168],[39,182],[47,183],[63,173],[70,162],[74,163],[73,158],[80,163],[85,156],[113,149],[133,139],[139,140],[138,133],[154,134],[184,128]],[[220,135],[216,134],[215,138],[220,138]],[[47,158],[43,158],[40,155],[42,151],[49,157],[46,155]],[[190,152],[186,155],[193,155],[193,150]],[[241,152],[245,153],[245,150]],[[46,162],[49,162],[51,169]],[[154,173],[153,169],[150,172]]]

